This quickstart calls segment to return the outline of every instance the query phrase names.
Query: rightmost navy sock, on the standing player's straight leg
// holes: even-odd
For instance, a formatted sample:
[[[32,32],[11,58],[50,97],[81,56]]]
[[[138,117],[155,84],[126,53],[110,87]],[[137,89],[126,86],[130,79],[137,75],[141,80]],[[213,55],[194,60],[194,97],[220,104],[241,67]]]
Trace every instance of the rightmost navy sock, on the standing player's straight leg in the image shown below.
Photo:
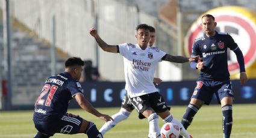
[[[222,107],[222,128],[224,138],[229,138],[232,130],[233,125],[233,117],[232,117],[232,105],[225,105]]]

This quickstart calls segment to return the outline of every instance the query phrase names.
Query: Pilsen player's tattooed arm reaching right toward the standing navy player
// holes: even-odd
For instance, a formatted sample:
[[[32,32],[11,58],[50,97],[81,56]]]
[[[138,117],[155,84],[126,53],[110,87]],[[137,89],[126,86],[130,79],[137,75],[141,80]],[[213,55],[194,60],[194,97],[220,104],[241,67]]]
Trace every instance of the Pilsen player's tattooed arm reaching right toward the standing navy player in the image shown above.
[[[172,56],[169,54],[166,54],[163,56],[162,60],[163,61],[169,61],[169,62],[175,62],[175,63],[184,63],[184,62],[189,62],[189,61],[196,61],[200,57],[199,56],[193,56],[192,58],[186,58],[184,56]]]

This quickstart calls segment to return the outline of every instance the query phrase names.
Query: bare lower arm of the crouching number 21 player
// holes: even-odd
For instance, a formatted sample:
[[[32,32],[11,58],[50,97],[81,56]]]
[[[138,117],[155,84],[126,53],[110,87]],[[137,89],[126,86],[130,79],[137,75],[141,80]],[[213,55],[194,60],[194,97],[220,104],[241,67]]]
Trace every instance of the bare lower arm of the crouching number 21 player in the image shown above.
[[[92,104],[90,104],[89,101],[86,100],[86,98],[84,98],[84,95],[82,94],[76,94],[75,95],[75,100],[77,101],[77,103],[79,104],[79,106],[86,110],[89,113],[92,113],[93,115],[97,116],[98,118],[105,120],[105,121],[110,121],[113,120],[113,118],[111,118],[108,115],[104,115],[100,112],[98,112],[98,110],[96,110]]]

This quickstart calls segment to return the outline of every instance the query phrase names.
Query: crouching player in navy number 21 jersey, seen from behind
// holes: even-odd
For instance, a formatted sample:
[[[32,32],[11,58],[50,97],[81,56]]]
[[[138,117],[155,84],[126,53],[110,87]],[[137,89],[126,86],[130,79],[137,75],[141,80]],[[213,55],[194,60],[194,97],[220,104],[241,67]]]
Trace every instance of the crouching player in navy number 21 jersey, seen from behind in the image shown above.
[[[96,110],[84,98],[78,80],[83,71],[84,62],[81,58],[69,58],[65,62],[64,73],[49,77],[37,98],[33,121],[38,130],[35,138],[51,137],[55,133],[77,134],[85,133],[90,138],[102,137],[93,122],[86,121],[77,115],[67,113],[67,106],[75,98],[82,109],[104,121],[112,118]]]

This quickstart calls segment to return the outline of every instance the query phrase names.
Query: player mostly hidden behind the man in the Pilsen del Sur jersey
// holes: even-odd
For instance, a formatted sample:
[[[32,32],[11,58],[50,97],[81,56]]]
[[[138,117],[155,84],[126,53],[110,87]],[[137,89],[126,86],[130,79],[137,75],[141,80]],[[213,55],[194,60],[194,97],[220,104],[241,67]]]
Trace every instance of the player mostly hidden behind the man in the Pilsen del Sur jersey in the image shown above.
[[[148,42],[148,46],[151,47],[155,43],[155,28],[152,26],[149,26],[149,32],[150,32],[150,40]],[[159,85],[162,81],[160,78],[157,78],[157,77],[154,77],[153,80],[156,85]],[[108,130],[113,128],[116,124],[127,119],[131,115],[131,112],[133,112],[133,110],[134,110],[134,106],[133,104],[131,104],[131,102],[128,99],[128,95],[126,94],[125,97],[123,97],[121,109],[119,110],[119,112],[111,116],[111,118],[113,118],[113,121],[105,122],[105,124],[102,125],[101,129],[99,129],[101,134],[104,135]],[[142,117],[143,115],[140,115],[140,119],[142,119]]]

